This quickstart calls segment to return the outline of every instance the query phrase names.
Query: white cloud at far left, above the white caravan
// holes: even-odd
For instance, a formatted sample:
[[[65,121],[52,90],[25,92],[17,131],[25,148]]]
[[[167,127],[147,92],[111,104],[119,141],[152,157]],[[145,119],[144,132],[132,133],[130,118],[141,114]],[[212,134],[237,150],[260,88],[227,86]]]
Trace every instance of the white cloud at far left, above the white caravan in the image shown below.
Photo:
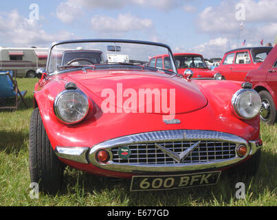
[[[0,13],[0,40],[3,43],[21,47],[45,47],[62,39],[72,39],[72,34],[67,31],[49,34],[42,29],[38,21],[21,17],[17,10]]]

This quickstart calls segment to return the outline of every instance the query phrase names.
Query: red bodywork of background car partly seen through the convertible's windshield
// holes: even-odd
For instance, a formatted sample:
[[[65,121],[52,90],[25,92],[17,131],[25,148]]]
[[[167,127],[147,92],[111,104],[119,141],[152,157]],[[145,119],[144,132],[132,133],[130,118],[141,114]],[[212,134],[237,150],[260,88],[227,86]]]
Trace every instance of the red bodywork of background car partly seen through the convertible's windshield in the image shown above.
[[[192,53],[175,53],[173,54],[173,56],[201,56],[201,58],[203,59],[204,61],[204,58],[201,54],[192,54]],[[168,57],[168,54],[162,54],[162,55],[159,55],[159,56],[153,56],[151,57],[151,59],[156,59],[156,63],[155,63],[155,67],[157,65],[157,58],[162,58],[162,63],[163,63],[163,68],[165,69],[166,67],[164,66],[164,58],[165,57]],[[149,61],[150,63],[150,61]],[[189,67],[189,68],[179,68],[177,69],[178,71],[178,74],[181,74],[182,76],[185,77],[184,75],[184,72],[186,69],[191,69],[192,72],[193,72],[193,76],[192,78],[213,78],[214,77],[214,74],[216,74],[217,72],[216,71],[213,71],[213,70],[210,70],[210,69],[200,69],[200,68],[192,68],[192,67]]]

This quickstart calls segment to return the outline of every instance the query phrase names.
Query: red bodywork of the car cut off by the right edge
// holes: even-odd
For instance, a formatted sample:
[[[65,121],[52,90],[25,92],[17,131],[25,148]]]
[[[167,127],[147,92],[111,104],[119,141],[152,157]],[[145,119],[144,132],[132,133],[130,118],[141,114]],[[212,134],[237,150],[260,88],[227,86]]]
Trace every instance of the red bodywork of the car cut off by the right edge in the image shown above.
[[[272,51],[267,55],[265,61],[261,63],[258,69],[251,70],[245,77],[246,82],[253,85],[253,89],[261,91],[267,90],[272,96],[277,110],[277,47],[275,46]]]

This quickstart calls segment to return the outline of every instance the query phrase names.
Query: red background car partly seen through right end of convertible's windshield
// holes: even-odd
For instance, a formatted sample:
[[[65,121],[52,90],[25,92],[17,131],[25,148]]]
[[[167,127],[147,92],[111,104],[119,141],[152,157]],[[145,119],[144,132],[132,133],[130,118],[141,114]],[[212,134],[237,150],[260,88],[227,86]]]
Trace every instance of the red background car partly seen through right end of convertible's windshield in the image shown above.
[[[173,56],[178,74],[186,78],[192,74],[192,78],[197,79],[223,79],[221,74],[208,69],[201,54],[175,53]],[[159,69],[172,69],[168,54],[151,57],[148,66]]]

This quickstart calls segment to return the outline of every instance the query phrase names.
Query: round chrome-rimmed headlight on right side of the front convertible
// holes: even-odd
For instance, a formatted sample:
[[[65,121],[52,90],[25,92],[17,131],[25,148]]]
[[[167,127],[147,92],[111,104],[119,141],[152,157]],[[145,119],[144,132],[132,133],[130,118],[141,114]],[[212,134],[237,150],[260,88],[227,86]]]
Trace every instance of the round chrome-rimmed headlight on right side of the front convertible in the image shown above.
[[[261,98],[254,89],[240,89],[232,98],[232,106],[240,118],[251,119],[261,109]]]

